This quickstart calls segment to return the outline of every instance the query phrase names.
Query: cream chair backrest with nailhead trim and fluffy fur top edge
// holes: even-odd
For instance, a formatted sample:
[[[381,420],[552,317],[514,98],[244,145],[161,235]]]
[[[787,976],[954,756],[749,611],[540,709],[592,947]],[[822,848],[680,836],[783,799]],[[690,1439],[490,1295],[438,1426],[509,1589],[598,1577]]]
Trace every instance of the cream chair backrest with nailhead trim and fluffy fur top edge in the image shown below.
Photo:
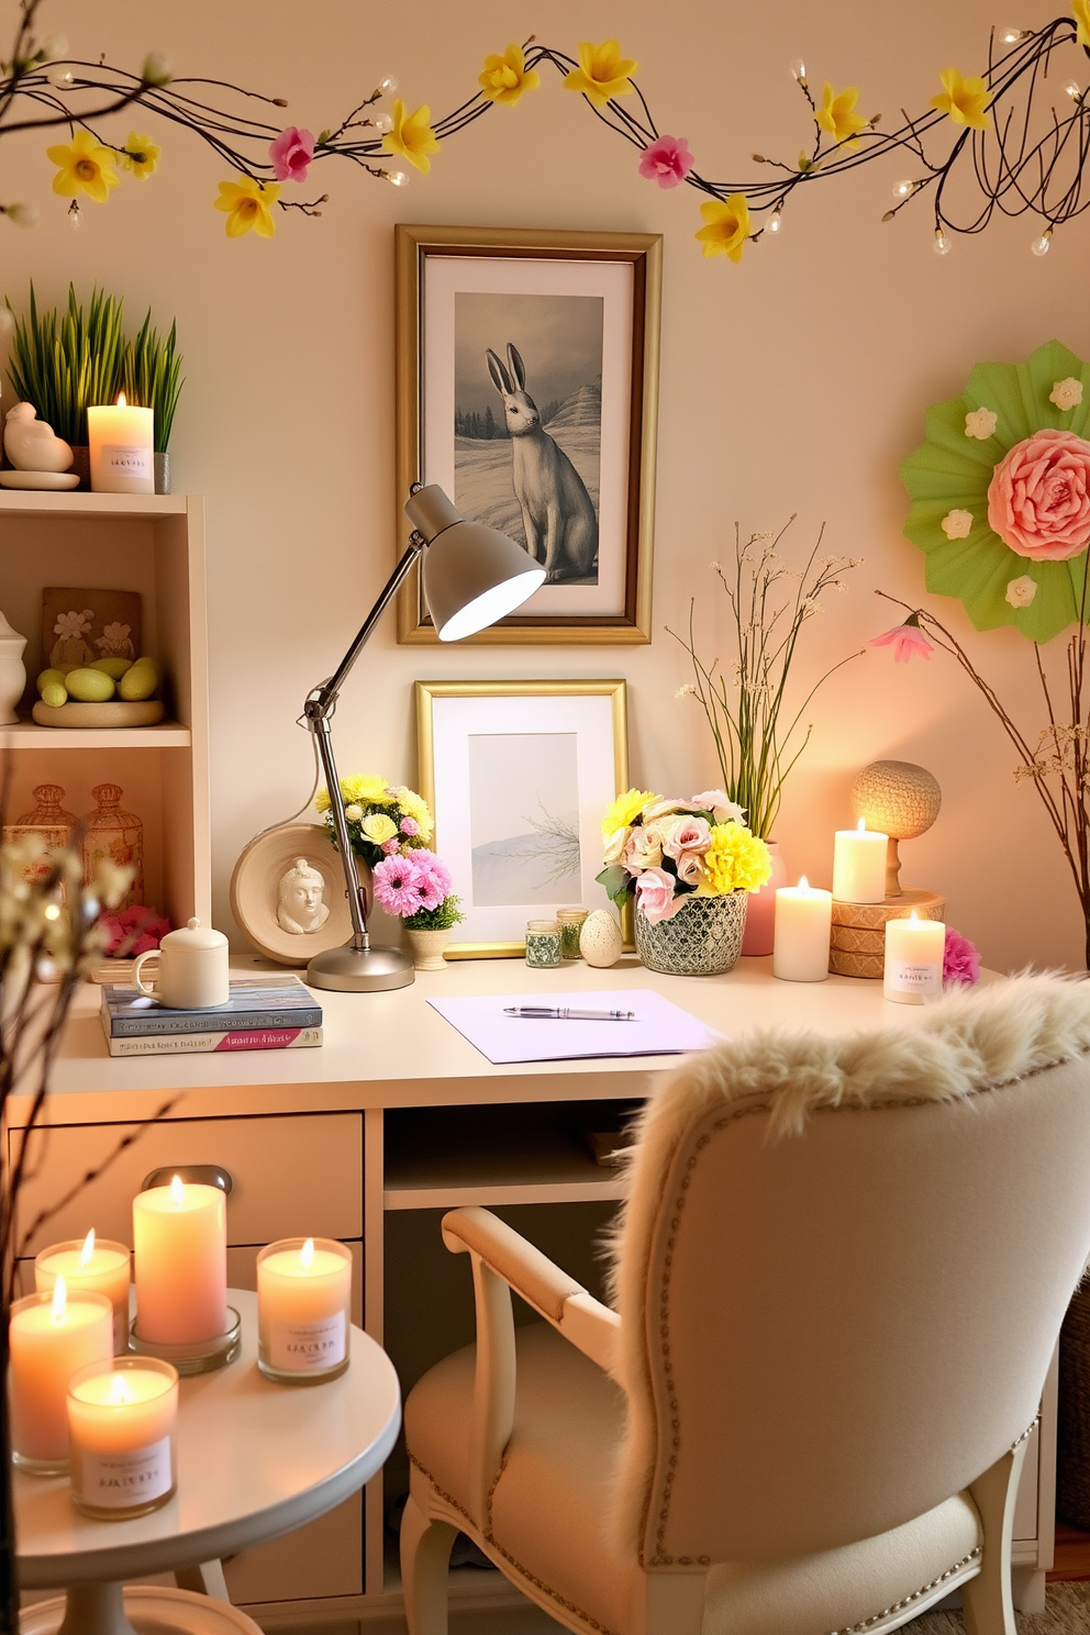
[[[1088,1050],[1090,984],[1021,978],[678,1071],[616,1261],[646,1565],[871,1537],[1030,1427],[1090,1252]]]

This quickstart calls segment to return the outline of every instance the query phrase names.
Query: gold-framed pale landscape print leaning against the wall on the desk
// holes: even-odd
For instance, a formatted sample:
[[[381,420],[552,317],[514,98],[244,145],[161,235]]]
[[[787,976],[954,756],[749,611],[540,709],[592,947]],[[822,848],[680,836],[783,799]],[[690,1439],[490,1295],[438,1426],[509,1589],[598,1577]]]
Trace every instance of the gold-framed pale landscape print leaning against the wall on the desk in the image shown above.
[[[526,921],[605,907],[601,813],[628,788],[624,682],[417,682],[417,786],[461,898],[448,960],[516,956]]]

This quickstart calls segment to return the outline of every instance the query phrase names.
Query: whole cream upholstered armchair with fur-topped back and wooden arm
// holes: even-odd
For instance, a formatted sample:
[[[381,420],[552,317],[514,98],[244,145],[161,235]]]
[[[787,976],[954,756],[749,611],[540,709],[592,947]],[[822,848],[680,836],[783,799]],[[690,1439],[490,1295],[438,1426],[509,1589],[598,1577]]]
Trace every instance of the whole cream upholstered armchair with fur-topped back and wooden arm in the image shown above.
[[[410,1393],[410,1635],[469,1534],[587,1635],[1013,1635],[1025,1439],[1090,1251],[1090,984],[765,1033],[647,1105],[613,1306],[487,1210],[477,1344]],[[513,1326],[510,1290],[544,1319]]]

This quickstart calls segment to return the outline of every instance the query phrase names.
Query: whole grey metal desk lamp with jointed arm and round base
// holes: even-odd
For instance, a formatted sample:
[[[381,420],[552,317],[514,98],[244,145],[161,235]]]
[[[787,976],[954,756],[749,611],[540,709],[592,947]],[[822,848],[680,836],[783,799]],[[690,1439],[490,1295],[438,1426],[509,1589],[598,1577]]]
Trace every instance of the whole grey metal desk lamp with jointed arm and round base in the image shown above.
[[[420,558],[423,558],[423,595],[440,641],[461,641],[462,636],[472,636],[495,625],[505,613],[521,607],[544,580],[544,567],[520,544],[495,528],[485,528],[484,523],[466,522],[436,484],[413,487],[405,515],[413,526],[405,554],[379,592],[377,602],[333,675],[307,695],[302,708],[302,721],[315,736],[325,773],[351,916],[351,940],[340,948],[315,953],[307,966],[307,983],[312,988],[335,988],[350,994],[407,988],[413,979],[413,965],[400,948],[373,948],[368,937],[366,898],[348,839],[348,819],[330,731],[337,698],[348,672]]]

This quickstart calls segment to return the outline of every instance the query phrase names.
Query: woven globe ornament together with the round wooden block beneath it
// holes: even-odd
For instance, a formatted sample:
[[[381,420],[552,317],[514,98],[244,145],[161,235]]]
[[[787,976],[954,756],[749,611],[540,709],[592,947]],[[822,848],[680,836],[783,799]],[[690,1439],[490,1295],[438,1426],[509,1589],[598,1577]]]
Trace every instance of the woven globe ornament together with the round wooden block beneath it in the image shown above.
[[[889,835],[886,852],[886,901],[842,903],[833,898],[829,970],[840,976],[882,976],[886,922],[907,919],[943,919],[946,899],[922,886],[900,885],[899,840],[915,840],[927,834],[943,791],[925,767],[910,760],[873,760],[851,785],[851,806],[868,829]]]

